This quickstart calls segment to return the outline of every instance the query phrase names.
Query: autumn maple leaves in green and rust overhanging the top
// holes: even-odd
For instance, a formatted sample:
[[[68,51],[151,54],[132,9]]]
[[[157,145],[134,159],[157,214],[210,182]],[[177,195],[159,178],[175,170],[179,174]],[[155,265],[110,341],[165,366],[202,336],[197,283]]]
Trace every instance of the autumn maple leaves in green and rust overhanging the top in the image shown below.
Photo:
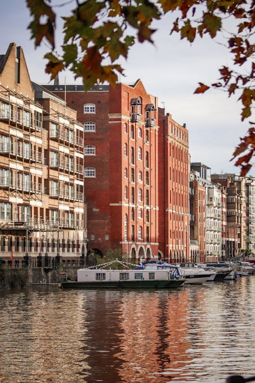
[[[197,36],[209,34],[215,38],[222,31],[225,19],[237,20],[237,30],[229,35],[227,49],[233,58],[233,68],[222,66],[220,77],[210,85],[199,83],[194,93],[203,93],[210,87],[225,90],[230,97],[239,91],[242,103],[242,121],[251,116],[255,90],[252,86],[254,56],[254,0],[86,0],[75,1],[72,14],[64,19],[63,55],[57,57],[55,49],[56,13],[50,0],[26,0],[32,21],[29,25],[35,45],[46,39],[52,51],[45,55],[48,60],[46,73],[54,79],[64,68],[71,70],[75,78],[82,77],[84,88],[105,81],[114,85],[123,68],[117,60],[127,58],[136,39],[153,42],[152,27],[168,12],[176,12],[170,34],[179,33],[181,39],[191,43]],[[64,4],[63,4],[64,5]],[[131,33],[133,32],[133,33]],[[255,128],[250,122],[247,136],[241,138],[233,158],[241,155],[236,165],[245,175],[255,151]]]

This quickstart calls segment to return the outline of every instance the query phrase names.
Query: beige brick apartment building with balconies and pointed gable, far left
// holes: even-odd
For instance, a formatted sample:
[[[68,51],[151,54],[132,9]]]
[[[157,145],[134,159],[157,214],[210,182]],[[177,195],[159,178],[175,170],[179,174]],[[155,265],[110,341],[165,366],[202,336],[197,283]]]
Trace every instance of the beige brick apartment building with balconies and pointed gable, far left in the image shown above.
[[[75,265],[86,255],[83,125],[30,80],[22,48],[0,55],[0,258]]]

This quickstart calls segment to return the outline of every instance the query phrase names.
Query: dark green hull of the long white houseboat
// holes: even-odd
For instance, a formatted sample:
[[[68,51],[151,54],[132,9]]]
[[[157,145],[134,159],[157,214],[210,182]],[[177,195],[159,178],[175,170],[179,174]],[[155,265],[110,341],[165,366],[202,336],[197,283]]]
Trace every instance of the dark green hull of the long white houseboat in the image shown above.
[[[62,289],[176,289],[182,286],[185,279],[169,280],[123,280],[61,283]]]

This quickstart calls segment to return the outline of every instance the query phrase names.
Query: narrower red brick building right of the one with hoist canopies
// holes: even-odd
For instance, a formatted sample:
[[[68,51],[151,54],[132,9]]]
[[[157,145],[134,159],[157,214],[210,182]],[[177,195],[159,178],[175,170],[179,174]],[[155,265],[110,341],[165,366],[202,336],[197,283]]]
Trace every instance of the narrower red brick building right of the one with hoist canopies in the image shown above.
[[[190,258],[189,135],[159,108],[159,253],[170,262]]]

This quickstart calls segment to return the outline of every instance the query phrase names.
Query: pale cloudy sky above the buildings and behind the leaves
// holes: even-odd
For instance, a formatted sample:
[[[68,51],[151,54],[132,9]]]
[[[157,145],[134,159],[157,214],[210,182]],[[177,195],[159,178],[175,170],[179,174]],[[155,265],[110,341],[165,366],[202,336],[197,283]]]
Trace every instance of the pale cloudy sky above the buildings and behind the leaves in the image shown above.
[[[5,54],[9,43],[22,46],[30,78],[38,84],[53,84],[45,74],[47,60],[43,59],[49,47],[42,42],[35,49],[28,25],[31,21],[25,0],[1,2],[0,54]],[[64,0],[54,0],[56,5]],[[65,7],[55,10],[62,16],[70,14],[76,1],[69,1]],[[15,11],[14,11],[15,10]],[[173,17],[174,16],[174,17]],[[165,107],[177,123],[189,131],[191,162],[202,162],[211,168],[211,174],[236,173],[240,167],[231,161],[235,148],[240,143],[249,124],[241,122],[242,104],[237,97],[228,98],[227,93],[210,89],[203,94],[194,94],[198,83],[210,85],[219,78],[218,69],[230,65],[231,56],[219,38],[198,37],[193,44],[180,36],[169,35],[171,21],[177,16],[166,15],[156,23],[157,32],[152,35],[154,44],[135,44],[127,60],[122,60],[125,76],[119,81],[133,83],[141,79],[148,93],[158,97],[159,106]],[[61,52],[61,19],[57,19],[57,46]],[[60,83],[81,84],[66,70],[59,75]],[[254,175],[252,166],[248,175]]]

